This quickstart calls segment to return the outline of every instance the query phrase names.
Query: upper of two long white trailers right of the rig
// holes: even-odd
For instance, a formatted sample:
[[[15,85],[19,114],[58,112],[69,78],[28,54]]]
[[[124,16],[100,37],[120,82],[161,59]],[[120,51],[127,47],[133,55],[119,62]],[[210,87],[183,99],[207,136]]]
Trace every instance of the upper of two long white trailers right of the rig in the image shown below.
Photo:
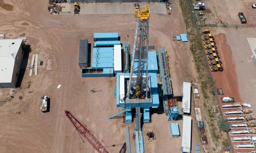
[[[182,111],[190,113],[191,83],[183,82]]]

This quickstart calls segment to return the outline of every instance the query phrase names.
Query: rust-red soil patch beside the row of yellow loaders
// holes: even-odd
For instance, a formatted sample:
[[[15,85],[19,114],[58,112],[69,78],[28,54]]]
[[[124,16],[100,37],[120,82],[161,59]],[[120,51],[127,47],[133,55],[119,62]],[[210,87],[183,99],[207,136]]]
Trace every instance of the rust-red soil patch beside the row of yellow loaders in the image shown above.
[[[219,33],[215,35],[215,43],[218,48],[219,56],[221,57],[223,72],[213,72],[213,79],[217,88],[222,88],[224,95],[219,95],[218,98],[222,97],[234,97],[235,102],[242,103],[242,98],[239,94],[237,72],[235,71],[235,64],[232,59],[232,52],[230,46],[227,44],[226,35]]]

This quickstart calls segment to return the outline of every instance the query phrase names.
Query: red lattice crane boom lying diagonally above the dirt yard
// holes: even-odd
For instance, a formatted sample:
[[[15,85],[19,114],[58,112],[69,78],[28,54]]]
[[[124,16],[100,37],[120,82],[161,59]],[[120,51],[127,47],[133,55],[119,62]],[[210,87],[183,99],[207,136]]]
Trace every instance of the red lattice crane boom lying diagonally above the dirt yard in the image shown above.
[[[81,123],[73,114],[65,110],[65,115],[75,126],[75,129],[85,137],[85,139],[99,152],[99,153],[109,153],[106,148],[103,147],[101,142],[91,133],[91,131],[86,128],[86,126]]]

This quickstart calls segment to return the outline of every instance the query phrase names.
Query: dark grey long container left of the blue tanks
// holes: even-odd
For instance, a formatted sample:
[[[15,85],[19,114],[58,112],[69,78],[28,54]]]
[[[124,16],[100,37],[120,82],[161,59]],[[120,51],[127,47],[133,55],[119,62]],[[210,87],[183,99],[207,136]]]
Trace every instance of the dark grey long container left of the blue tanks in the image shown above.
[[[88,40],[81,39],[79,44],[78,64],[87,63],[88,61]]]

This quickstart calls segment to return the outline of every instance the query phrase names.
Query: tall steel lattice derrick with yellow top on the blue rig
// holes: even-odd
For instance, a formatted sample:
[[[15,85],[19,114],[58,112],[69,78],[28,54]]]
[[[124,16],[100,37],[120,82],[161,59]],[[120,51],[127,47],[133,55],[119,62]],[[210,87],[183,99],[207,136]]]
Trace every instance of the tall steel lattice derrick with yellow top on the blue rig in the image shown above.
[[[127,99],[147,99],[150,94],[148,74],[149,8],[135,4],[134,14],[137,21],[132,54],[131,73]],[[136,65],[134,65],[136,63]],[[138,64],[137,64],[138,63]]]

